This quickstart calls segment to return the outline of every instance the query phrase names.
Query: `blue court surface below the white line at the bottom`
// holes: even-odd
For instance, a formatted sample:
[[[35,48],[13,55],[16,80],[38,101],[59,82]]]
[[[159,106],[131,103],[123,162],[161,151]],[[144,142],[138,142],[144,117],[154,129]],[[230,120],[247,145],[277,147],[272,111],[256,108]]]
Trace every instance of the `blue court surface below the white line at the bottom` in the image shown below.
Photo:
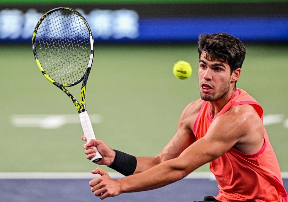
[[[283,179],[288,190],[288,179]],[[90,179],[0,179],[0,202],[80,202],[102,201],[90,191]],[[217,182],[211,178],[185,178],[165,187],[137,193],[124,193],[105,201],[192,202],[205,195],[217,195]]]

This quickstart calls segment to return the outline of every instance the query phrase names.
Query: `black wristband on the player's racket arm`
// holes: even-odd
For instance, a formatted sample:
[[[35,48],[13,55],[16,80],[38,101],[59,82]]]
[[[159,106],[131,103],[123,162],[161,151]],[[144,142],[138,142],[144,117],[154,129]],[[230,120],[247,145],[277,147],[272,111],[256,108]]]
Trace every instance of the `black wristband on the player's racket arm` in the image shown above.
[[[115,159],[113,163],[108,167],[118,171],[125,176],[132,175],[137,166],[136,157],[115,149],[113,150],[116,152]]]

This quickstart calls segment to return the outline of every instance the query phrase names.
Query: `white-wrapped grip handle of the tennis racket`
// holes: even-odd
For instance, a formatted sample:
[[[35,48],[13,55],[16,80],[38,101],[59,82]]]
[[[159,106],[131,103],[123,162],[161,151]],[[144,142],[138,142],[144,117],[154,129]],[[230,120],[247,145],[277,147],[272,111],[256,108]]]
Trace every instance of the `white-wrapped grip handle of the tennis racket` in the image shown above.
[[[94,135],[93,128],[92,128],[92,124],[91,124],[91,121],[89,119],[87,111],[79,113],[79,117],[80,117],[81,126],[82,126],[82,129],[83,129],[84,135],[86,137],[87,143],[90,142],[90,140],[92,140],[92,139],[96,139],[95,135]],[[96,149],[96,147],[93,147],[93,148]],[[98,152],[98,150],[96,149],[96,154],[91,159],[91,161],[93,163],[95,163],[95,162],[100,161],[101,159],[102,159],[102,156]]]

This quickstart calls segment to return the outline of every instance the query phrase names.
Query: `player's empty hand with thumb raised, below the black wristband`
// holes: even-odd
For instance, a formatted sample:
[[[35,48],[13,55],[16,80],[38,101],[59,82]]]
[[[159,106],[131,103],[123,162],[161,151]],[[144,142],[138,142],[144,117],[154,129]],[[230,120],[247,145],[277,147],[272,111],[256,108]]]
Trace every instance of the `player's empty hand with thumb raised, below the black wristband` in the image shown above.
[[[94,192],[96,197],[100,196],[100,199],[105,199],[107,197],[115,197],[121,193],[120,183],[112,179],[106,171],[96,168],[91,173],[101,175],[101,177],[92,179],[89,182],[91,191]]]

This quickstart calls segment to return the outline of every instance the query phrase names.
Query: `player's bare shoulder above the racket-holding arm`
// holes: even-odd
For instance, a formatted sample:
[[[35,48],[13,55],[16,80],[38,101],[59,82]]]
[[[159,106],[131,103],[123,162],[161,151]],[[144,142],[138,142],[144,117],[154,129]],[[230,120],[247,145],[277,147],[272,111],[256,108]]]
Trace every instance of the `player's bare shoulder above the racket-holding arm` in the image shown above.
[[[179,118],[179,124],[180,125],[186,125],[189,128],[192,128],[194,122],[196,121],[197,115],[201,109],[203,100],[198,99],[193,102],[190,102],[182,111],[181,116]]]

